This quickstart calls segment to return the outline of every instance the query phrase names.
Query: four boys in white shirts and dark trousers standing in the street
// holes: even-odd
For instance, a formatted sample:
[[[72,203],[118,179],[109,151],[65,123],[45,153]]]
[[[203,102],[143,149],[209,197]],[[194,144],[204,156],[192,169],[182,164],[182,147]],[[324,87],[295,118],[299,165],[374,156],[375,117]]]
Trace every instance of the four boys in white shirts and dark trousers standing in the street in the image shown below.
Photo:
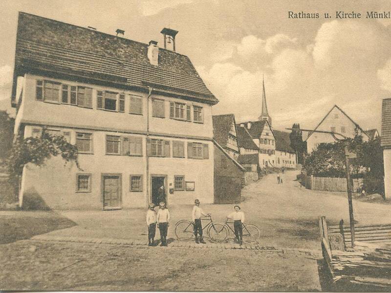
[[[206,244],[202,236],[202,223],[201,217],[210,217],[211,214],[205,214],[204,211],[199,207],[199,200],[195,200],[195,206],[192,210],[192,223],[194,227],[195,234],[195,243]],[[170,211],[166,207],[165,202],[159,203],[159,210],[155,211],[155,205],[149,204],[149,209],[147,211],[147,226],[148,226],[148,245],[154,246],[154,238],[156,234],[156,224],[157,228],[160,231],[160,246],[167,246],[167,230],[170,226]],[[227,217],[234,220],[234,230],[236,241],[242,245],[242,235],[243,228],[242,224],[244,223],[244,213],[240,211],[239,206],[234,207],[235,211],[229,214]]]

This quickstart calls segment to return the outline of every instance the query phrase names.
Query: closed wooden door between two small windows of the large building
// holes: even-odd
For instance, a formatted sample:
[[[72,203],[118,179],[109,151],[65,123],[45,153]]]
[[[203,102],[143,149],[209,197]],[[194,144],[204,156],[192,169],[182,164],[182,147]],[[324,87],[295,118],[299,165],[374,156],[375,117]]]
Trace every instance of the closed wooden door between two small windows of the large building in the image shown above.
[[[121,177],[119,175],[103,176],[103,209],[121,208]]]

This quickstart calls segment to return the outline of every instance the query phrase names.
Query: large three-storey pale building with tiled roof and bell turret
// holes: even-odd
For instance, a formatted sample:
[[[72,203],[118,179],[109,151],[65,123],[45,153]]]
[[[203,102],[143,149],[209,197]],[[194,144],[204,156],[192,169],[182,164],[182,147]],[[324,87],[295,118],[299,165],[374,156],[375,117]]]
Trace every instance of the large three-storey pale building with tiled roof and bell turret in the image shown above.
[[[164,28],[164,48],[20,13],[12,105],[15,135],[43,127],[79,150],[23,169],[20,203],[121,209],[214,202],[212,105],[217,99]],[[169,47],[171,46],[171,47]]]

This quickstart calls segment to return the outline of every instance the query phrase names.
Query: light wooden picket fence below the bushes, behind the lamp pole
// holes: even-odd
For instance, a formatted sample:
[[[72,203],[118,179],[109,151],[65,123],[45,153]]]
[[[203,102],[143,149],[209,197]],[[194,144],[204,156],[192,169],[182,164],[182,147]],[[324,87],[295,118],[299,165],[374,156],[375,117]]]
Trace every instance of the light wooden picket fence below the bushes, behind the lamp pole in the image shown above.
[[[363,179],[353,179],[353,192],[359,191]],[[310,188],[312,190],[347,191],[346,178],[339,177],[316,177],[311,176]]]

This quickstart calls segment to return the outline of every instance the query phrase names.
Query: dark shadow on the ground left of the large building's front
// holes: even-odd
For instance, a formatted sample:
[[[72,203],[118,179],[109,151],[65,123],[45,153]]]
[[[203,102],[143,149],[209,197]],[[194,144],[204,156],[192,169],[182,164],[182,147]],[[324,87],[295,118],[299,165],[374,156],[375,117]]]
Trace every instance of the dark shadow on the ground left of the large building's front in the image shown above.
[[[75,222],[54,211],[14,211],[0,217],[0,244],[73,226],[76,226]]]

